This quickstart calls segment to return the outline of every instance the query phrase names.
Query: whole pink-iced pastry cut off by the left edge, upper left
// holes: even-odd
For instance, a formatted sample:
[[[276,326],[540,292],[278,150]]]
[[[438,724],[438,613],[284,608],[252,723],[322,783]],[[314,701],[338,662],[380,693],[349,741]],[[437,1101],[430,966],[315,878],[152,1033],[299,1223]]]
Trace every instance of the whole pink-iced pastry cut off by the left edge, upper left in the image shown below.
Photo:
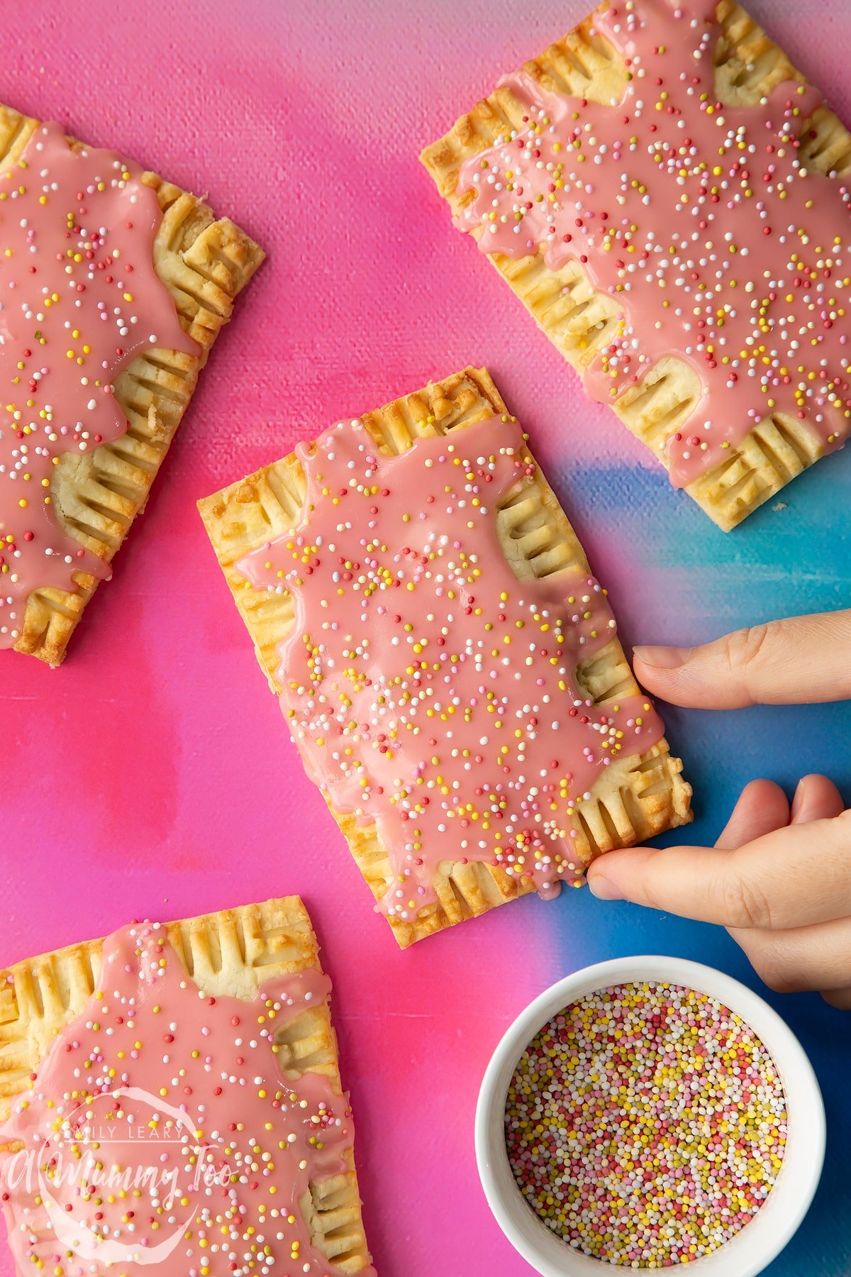
[[[0,105],[0,647],[63,660],[262,261],[195,195]]]

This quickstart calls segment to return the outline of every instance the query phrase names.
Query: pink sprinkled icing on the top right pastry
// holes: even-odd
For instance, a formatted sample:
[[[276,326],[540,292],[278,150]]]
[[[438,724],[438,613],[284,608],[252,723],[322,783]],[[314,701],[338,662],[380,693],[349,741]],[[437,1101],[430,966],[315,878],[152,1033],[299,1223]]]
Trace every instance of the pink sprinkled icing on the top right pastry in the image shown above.
[[[461,169],[477,197],[458,216],[486,253],[578,259],[623,310],[586,373],[611,402],[662,356],[703,383],[660,443],[685,487],[763,418],[806,421],[824,450],[848,434],[851,192],[808,172],[800,130],[817,89],[778,84],[722,106],[714,0],[630,0],[595,18],[625,59],[620,102],[600,105],[509,75],[524,126]]]

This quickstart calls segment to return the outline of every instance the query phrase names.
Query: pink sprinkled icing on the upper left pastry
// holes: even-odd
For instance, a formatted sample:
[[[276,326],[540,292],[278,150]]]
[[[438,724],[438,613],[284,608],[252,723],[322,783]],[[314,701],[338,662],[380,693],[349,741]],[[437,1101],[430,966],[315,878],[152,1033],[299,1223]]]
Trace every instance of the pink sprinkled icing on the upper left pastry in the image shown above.
[[[0,174],[0,647],[33,590],[110,571],[59,525],[54,466],[125,433],[114,382],[135,355],[198,354],[154,272],[161,221],[142,169],[57,124]]]

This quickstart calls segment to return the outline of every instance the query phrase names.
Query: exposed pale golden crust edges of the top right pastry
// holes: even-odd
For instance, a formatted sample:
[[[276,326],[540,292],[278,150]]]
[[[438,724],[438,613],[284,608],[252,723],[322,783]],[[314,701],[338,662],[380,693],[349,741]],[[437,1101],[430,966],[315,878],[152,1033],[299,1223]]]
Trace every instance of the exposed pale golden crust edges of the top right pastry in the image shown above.
[[[716,13],[723,33],[716,50],[716,91],[725,105],[757,102],[783,80],[808,83],[741,5],[718,0]],[[526,63],[523,70],[549,89],[597,102],[619,98],[625,66],[612,47],[592,33],[593,17]],[[498,88],[425,148],[422,163],[453,213],[475,198],[472,192],[458,193],[463,161],[490,147],[507,126],[519,126],[523,110],[508,87]],[[808,169],[842,178],[851,174],[851,134],[827,107],[819,106],[813,112],[801,138],[800,157]],[[540,253],[523,258],[496,253],[487,257],[568,363],[583,372],[610,340],[619,314],[616,303],[593,290],[579,262],[551,271]],[[684,360],[666,358],[612,407],[624,425],[665,462],[657,442],[690,415],[699,393],[697,370]],[[811,425],[774,412],[732,447],[721,465],[685,490],[718,527],[730,531],[823,453],[823,442]]]

